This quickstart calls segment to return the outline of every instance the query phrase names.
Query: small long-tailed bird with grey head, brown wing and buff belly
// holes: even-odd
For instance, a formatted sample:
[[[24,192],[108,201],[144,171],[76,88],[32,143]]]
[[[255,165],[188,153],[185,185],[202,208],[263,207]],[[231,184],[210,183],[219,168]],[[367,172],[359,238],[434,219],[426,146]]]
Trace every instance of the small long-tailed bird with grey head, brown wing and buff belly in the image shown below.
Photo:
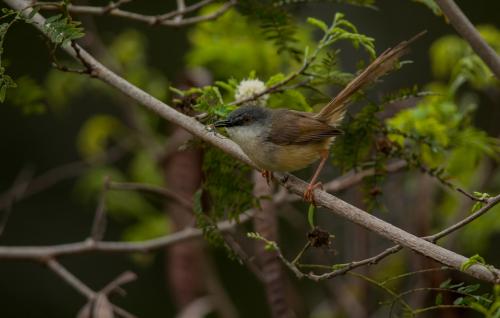
[[[321,187],[317,179],[331,144],[342,134],[340,125],[352,97],[392,70],[409,45],[425,32],[385,50],[318,113],[245,105],[215,122],[214,127],[226,129],[229,138],[262,170],[268,182],[272,172],[293,172],[320,160],[303,195],[314,203],[314,190]]]

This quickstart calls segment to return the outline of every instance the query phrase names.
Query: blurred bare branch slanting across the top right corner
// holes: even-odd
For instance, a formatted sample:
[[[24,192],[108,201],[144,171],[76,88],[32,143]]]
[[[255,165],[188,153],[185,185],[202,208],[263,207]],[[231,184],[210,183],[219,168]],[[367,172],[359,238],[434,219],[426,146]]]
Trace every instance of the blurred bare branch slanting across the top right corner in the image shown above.
[[[436,0],[436,3],[455,30],[469,42],[474,52],[479,55],[495,76],[500,79],[500,56],[481,37],[481,34],[474,28],[474,25],[472,25],[457,4],[453,0]]]

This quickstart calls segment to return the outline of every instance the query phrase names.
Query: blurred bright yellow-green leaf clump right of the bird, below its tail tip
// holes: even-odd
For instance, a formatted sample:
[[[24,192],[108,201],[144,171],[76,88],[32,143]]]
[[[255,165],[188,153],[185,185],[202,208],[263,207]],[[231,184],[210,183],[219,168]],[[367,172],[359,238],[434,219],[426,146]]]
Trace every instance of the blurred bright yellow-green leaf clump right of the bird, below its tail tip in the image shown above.
[[[499,141],[471,126],[474,106],[460,108],[450,96],[429,96],[387,120],[393,142],[424,165],[446,165],[446,172],[467,180],[484,156],[497,157]],[[401,134],[402,133],[402,134]],[[448,151],[443,151],[448,149]]]

